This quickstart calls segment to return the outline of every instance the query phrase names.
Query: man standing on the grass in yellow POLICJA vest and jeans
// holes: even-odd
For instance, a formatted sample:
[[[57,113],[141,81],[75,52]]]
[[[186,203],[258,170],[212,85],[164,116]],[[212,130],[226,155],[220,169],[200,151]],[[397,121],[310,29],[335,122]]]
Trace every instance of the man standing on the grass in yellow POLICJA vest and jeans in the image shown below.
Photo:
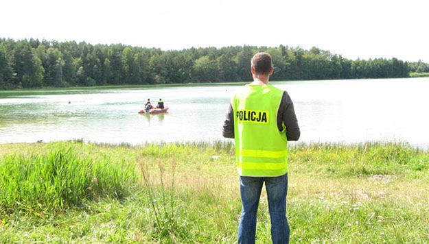
[[[253,56],[253,82],[232,97],[224,121],[223,136],[235,138],[240,175],[242,213],[238,243],[255,243],[256,212],[264,182],[271,239],[273,243],[289,242],[286,218],[288,141],[297,141],[301,133],[288,93],[268,84],[273,69],[268,53]]]

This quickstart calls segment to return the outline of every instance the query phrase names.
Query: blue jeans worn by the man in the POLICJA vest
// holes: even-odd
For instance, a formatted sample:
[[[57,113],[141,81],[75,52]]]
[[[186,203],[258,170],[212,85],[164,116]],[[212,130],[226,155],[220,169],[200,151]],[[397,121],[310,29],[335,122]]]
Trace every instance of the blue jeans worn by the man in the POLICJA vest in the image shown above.
[[[265,182],[271,219],[271,240],[274,244],[289,243],[290,229],[286,218],[288,174],[278,177],[240,176],[242,215],[238,225],[238,243],[255,243],[256,212]]]

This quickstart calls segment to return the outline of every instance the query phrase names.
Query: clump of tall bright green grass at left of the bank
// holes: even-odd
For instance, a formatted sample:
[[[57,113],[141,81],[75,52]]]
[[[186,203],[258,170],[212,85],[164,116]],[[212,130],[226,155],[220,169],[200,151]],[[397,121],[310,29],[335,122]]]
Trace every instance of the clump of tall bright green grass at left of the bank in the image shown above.
[[[132,164],[91,160],[70,148],[12,154],[0,161],[0,210],[43,213],[81,206],[97,197],[121,199],[135,184]]]

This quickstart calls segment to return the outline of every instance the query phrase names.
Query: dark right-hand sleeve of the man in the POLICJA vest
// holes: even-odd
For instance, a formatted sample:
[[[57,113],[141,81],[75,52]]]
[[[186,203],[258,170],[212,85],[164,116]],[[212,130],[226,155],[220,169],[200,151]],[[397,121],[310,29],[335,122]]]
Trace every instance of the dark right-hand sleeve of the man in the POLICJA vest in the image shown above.
[[[288,141],[298,141],[301,131],[299,130],[294,103],[286,91],[281,97],[279,111],[277,112],[277,127],[279,127],[280,131],[283,130],[283,125],[286,127]]]

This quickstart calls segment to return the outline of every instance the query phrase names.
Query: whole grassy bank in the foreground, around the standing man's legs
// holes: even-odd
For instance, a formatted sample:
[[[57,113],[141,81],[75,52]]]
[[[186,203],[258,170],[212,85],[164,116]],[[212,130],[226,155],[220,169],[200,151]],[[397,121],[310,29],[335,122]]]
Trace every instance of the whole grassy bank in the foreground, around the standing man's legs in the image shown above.
[[[233,145],[0,145],[0,243],[234,243]],[[403,144],[290,149],[293,243],[427,243],[429,153]],[[257,243],[270,242],[266,195]]]

